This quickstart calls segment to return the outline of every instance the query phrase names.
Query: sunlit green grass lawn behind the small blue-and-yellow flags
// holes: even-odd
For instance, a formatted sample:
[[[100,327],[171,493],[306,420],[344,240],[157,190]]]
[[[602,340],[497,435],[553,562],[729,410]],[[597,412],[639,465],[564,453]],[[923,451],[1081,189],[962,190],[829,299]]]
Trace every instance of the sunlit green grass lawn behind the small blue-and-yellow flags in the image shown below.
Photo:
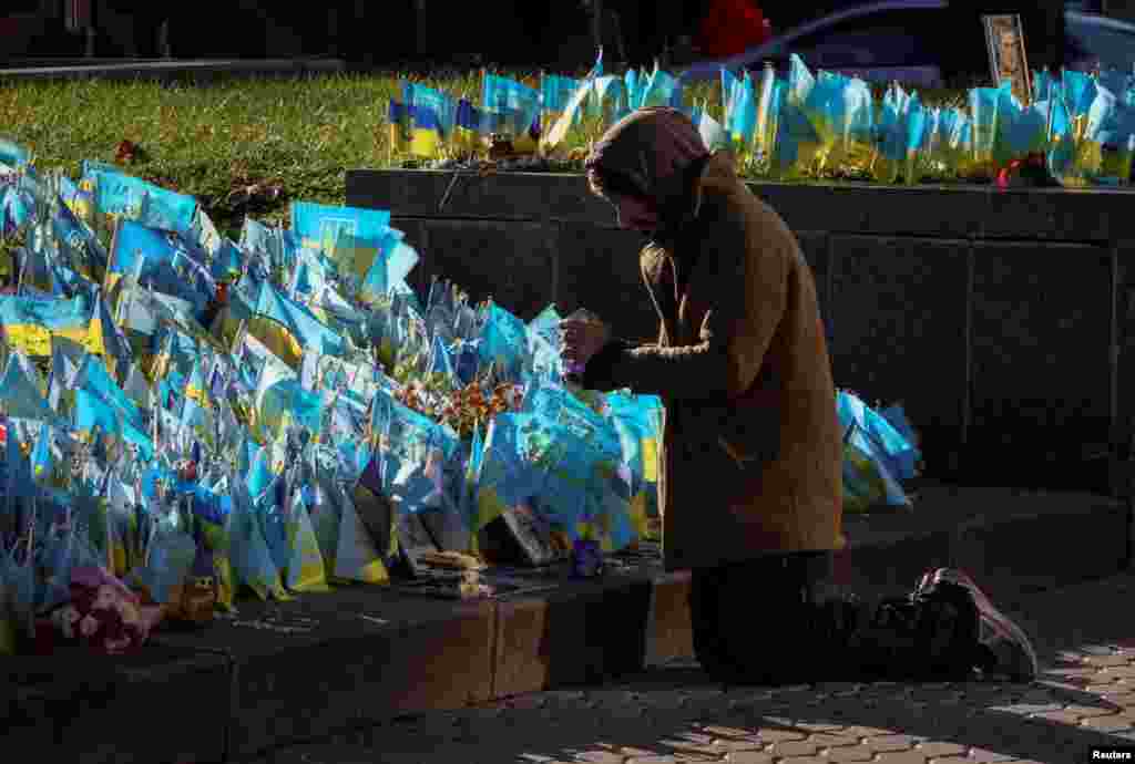
[[[503,73],[537,85],[538,74]],[[575,73],[581,76],[583,73]],[[479,71],[420,82],[477,102]],[[191,86],[148,82],[0,84],[0,135],[30,147],[40,168],[77,177],[85,159],[114,161],[126,139],[144,159],[127,172],[195,196],[219,227],[235,234],[246,213],[278,220],[292,200],[343,204],[350,169],[389,167],[386,119],[398,75],[327,75],[239,79]],[[687,91],[721,117],[720,87]],[[924,103],[958,103],[958,91],[920,93]],[[570,138],[586,145],[602,131],[585,119]],[[245,193],[278,187],[276,196]]]

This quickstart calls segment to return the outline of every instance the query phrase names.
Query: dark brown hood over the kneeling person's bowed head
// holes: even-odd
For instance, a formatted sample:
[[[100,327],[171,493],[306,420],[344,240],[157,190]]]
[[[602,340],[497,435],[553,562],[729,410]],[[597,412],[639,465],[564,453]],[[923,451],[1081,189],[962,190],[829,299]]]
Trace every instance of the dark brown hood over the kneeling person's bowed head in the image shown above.
[[[698,128],[676,109],[639,109],[595,144],[586,169],[613,192],[649,200],[658,211],[655,238],[676,234],[693,210],[693,181],[709,160]]]

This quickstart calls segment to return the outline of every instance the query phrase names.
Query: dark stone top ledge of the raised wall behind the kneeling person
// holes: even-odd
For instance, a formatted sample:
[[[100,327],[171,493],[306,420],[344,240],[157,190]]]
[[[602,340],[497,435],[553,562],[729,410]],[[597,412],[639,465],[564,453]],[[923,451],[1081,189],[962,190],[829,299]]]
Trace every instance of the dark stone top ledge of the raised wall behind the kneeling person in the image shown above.
[[[1127,189],[773,181],[748,186],[793,230],[1082,244],[1135,238],[1135,220],[1125,214],[1135,192]],[[590,195],[579,173],[482,177],[468,171],[356,169],[347,171],[346,196],[352,206],[389,210],[396,217],[614,227],[611,207]],[[823,211],[819,223],[817,210]]]

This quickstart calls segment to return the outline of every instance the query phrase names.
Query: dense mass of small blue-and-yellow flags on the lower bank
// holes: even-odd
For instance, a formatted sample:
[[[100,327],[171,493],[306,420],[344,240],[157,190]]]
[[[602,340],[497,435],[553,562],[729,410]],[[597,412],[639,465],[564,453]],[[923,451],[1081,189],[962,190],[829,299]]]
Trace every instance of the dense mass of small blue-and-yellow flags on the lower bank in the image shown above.
[[[498,518],[656,537],[662,401],[571,384],[555,306],[421,300],[386,211],[297,202],[234,241],[111,167],[0,161],[0,653],[386,584],[412,520],[465,554]],[[908,506],[911,435],[842,400],[849,507]]]

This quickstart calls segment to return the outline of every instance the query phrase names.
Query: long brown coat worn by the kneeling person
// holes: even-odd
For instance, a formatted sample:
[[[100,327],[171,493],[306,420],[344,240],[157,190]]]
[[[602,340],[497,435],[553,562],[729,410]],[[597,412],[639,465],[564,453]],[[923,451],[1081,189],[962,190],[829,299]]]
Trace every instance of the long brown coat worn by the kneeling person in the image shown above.
[[[675,240],[640,255],[657,345],[608,343],[585,384],[663,400],[669,570],[841,549],[841,432],[812,270],[730,154],[711,156],[689,203]]]

